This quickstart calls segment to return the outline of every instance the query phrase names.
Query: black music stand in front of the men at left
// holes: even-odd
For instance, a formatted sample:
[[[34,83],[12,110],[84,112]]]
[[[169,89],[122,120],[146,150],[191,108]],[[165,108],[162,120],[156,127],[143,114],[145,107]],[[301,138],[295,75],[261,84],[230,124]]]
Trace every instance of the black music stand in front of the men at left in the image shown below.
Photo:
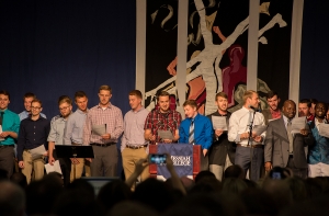
[[[56,145],[58,158],[94,158],[92,146]],[[73,163],[73,180],[76,179],[76,164]]]

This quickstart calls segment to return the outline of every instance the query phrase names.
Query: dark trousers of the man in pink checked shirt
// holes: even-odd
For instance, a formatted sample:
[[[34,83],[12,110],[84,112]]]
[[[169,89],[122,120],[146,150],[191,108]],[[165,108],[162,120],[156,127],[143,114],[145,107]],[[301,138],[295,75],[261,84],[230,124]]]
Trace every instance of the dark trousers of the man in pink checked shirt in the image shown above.
[[[92,146],[94,158],[90,163],[91,177],[115,177],[117,169],[116,145]]]

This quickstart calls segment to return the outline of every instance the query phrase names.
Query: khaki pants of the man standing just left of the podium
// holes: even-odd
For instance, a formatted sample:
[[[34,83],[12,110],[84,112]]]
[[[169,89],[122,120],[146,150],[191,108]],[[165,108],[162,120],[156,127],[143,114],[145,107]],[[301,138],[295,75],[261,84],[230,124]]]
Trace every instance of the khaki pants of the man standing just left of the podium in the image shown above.
[[[128,179],[134,170],[135,170],[135,163],[143,158],[147,158],[146,147],[145,148],[138,148],[138,149],[132,149],[132,148],[125,148],[122,151],[122,163],[125,172],[125,178]],[[145,181],[147,178],[149,178],[149,168],[145,168],[145,170],[140,174],[140,181]]]

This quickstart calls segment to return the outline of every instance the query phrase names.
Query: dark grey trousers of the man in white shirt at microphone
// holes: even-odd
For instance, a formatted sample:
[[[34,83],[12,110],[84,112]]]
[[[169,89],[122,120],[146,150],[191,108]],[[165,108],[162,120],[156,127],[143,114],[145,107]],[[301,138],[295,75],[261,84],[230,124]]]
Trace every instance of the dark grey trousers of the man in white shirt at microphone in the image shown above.
[[[258,182],[261,175],[261,168],[264,164],[264,149],[238,146],[235,164],[240,166],[245,174],[249,169],[249,179]]]

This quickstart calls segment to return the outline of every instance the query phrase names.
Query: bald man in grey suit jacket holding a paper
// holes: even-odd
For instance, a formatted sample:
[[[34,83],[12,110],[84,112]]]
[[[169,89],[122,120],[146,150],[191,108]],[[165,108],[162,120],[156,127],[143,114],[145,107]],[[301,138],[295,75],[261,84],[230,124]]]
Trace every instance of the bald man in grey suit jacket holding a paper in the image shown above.
[[[307,152],[305,147],[315,143],[307,128],[292,134],[292,120],[296,115],[296,103],[286,100],[282,107],[283,116],[269,123],[264,141],[265,171],[272,167],[290,168],[294,175],[307,178]]]

